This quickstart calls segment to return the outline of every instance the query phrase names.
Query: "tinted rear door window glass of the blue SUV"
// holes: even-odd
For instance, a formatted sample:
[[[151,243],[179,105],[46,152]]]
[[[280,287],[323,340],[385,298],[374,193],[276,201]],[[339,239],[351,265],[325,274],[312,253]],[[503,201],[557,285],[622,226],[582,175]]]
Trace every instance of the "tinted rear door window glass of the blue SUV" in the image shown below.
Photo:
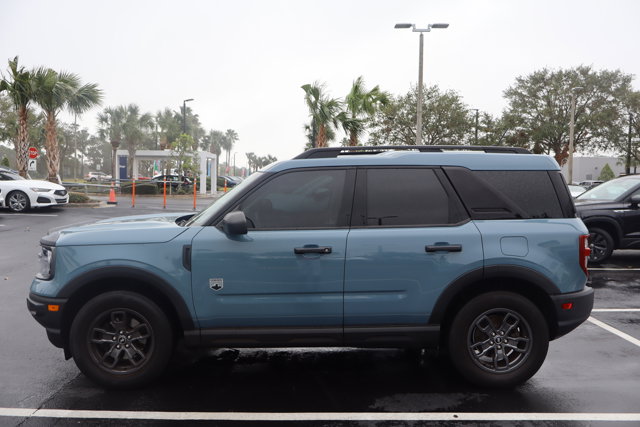
[[[365,192],[366,225],[435,225],[460,220],[432,169],[369,169]]]

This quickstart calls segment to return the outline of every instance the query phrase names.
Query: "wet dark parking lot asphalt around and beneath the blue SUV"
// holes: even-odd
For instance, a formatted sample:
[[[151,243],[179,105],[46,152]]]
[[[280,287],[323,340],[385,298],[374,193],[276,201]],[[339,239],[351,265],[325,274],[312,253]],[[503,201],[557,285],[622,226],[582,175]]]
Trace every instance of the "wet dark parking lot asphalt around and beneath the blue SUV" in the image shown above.
[[[145,389],[96,387],[26,309],[38,241],[55,227],[163,211],[142,198],[135,209],[0,210],[0,425],[640,425],[640,251],[591,270],[592,318],[513,390],[470,386],[431,353],[359,349],[222,349],[177,358]]]

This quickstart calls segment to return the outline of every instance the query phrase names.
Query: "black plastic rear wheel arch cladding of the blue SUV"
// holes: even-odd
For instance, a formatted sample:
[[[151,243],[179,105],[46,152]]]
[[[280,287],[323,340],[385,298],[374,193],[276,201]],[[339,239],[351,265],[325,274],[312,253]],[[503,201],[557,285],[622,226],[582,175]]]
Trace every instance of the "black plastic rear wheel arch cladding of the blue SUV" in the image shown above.
[[[440,337],[444,339],[455,314],[464,304],[478,295],[493,291],[513,292],[531,300],[547,319],[549,337],[556,337],[558,322],[550,295],[559,294],[560,290],[542,274],[511,265],[477,269],[456,279],[436,301],[429,323],[440,325]]]

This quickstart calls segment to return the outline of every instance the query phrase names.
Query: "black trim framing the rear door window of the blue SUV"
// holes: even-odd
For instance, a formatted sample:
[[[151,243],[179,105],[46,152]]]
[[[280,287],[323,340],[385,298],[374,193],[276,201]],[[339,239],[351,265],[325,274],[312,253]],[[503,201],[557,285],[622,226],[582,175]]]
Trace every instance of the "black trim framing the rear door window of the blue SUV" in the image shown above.
[[[430,169],[435,173],[436,178],[442,185],[450,203],[453,203],[455,208],[458,209],[461,216],[465,218],[455,223],[444,224],[409,224],[409,225],[360,225],[355,224],[357,217],[366,216],[366,198],[367,198],[367,171],[371,169]],[[359,229],[382,229],[382,228],[435,228],[435,227],[459,227],[471,221],[471,217],[467,212],[466,207],[460,200],[460,197],[453,188],[453,185],[446,178],[442,167],[434,165],[370,165],[370,166],[358,166],[356,185],[354,191],[353,211],[351,214],[351,228],[354,230]]]

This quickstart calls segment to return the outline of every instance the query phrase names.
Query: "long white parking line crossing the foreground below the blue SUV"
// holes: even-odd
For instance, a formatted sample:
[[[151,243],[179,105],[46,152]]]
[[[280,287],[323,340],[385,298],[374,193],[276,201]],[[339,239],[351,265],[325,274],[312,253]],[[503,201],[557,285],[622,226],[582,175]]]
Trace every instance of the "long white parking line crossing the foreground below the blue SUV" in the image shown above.
[[[640,413],[569,412],[160,412],[0,408],[0,416],[163,421],[640,421]]]

